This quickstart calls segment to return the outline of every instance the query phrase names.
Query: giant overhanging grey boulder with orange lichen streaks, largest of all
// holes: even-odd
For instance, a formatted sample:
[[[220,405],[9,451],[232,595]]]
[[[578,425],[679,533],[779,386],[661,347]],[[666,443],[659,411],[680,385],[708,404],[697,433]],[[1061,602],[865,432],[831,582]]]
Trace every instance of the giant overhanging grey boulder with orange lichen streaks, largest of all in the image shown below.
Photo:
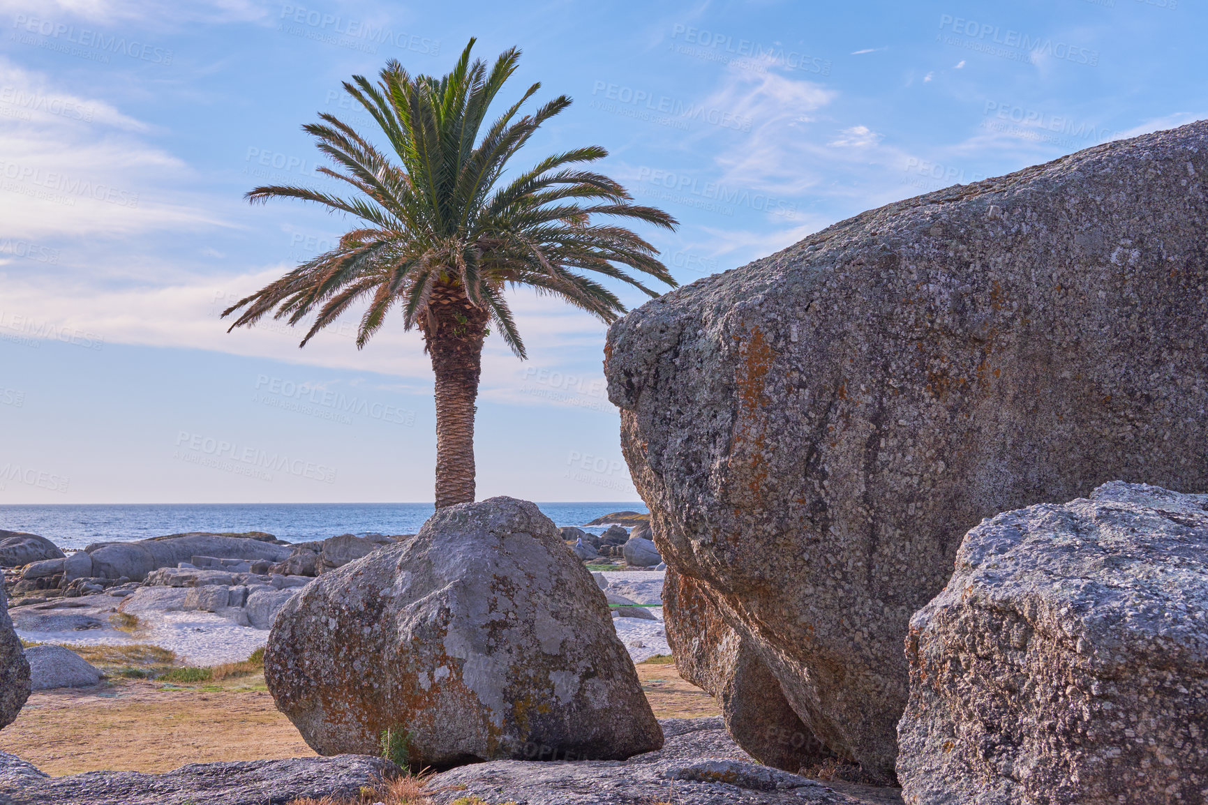
[[[861,214],[612,325],[669,567],[890,780],[911,614],[983,517],[1208,488],[1208,122]],[[668,622],[676,618],[668,611]]]

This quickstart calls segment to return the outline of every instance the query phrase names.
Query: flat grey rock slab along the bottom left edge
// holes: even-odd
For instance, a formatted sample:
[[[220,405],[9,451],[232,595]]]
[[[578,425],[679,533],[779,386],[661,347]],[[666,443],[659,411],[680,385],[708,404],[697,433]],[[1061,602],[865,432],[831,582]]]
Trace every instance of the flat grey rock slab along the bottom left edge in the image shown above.
[[[286,805],[310,797],[354,797],[399,768],[341,754],[248,763],[192,763],[159,775],[88,771],[50,777],[0,752],[0,805]]]

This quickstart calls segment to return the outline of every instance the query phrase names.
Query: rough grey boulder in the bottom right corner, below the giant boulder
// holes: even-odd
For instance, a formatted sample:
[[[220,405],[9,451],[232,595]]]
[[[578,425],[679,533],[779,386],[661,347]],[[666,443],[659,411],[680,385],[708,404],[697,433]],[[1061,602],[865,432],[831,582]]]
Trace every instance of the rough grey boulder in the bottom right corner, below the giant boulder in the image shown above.
[[[971,530],[911,619],[907,803],[1202,803],[1208,495],[1110,483]]]

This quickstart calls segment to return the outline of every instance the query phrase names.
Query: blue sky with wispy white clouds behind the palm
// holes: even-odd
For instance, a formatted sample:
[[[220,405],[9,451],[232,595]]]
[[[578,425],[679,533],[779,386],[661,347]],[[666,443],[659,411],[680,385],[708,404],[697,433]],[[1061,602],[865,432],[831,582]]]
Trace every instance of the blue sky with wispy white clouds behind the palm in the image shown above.
[[[0,503],[430,501],[414,333],[227,334],[217,311],[352,222],[301,126],[368,129],[341,82],[519,46],[512,93],[574,105],[527,159],[597,144],[681,221],[681,284],[918,193],[1206,116],[1187,0],[257,2],[0,0]],[[523,154],[522,154],[523,156]],[[631,303],[640,303],[633,294]],[[488,339],[478,495],[637,500],[604,326],[518,292]],[[268,465],[269,468],[266,468]]]

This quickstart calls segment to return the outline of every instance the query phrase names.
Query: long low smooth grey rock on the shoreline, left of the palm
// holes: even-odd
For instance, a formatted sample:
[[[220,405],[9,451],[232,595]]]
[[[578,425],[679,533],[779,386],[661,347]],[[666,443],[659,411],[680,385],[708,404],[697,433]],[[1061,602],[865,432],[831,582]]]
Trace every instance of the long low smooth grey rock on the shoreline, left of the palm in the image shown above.
[[[259,538],[205,532],[175,533],[137,542],[103,542],[88,546],[85,550],[92,558],[93,574],[115,579],[124,576],[135,582],[144,581],[157,568],[174,568],[180,562],[188,562],[193,556],[279,562],[292,552],[289,546]]]

